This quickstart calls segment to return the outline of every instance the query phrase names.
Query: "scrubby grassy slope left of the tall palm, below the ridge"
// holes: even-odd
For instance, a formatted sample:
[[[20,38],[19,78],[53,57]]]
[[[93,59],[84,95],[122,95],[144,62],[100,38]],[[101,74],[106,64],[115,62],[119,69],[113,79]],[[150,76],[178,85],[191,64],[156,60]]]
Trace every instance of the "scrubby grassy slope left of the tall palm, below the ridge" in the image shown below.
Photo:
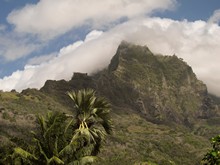
[[[67,107],[35,89],[22,93],[0,92],[0,148],[16,146],[22,143],[22,139],[30,140],[36,115],[44,115],[51,110],[68,111]]]

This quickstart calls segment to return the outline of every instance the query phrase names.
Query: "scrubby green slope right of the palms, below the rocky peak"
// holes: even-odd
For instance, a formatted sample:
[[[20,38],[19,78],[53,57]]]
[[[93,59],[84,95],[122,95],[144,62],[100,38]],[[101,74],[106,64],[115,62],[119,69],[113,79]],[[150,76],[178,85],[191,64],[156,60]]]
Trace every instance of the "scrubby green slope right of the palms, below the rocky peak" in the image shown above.
[[[116,107],[114,112],[115,132],[97,164],[199,164],[209,147],[207,138],[185,127],[153,124],[130,109]]]

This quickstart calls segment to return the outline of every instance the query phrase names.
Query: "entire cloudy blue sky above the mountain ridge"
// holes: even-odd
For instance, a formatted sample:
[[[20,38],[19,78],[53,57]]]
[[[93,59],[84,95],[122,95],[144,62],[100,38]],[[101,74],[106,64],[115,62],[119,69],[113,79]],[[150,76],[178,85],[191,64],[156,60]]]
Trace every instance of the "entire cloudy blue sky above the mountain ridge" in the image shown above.
[[[220,96],[219,0],[2,0],[0,6],[2,90],[94,73],[128,40],[177,54]]]

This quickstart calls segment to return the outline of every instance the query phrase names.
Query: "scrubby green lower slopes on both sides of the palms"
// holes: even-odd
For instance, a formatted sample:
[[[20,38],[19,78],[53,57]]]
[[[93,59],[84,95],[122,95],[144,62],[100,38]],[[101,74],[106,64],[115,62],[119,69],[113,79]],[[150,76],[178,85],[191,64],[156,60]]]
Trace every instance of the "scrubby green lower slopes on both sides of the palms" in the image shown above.
[[[71,113],[51,97],[37,90],[22,93],[1,93],[0,140],[19,143],[30,138],[35,114],[50,110]],[[151,161],[158,164],[196,164],[209,147],[208,137],[193,134],[193,130],[172,125],[157,125],[146,121],[141,114],[126,107],[113,107],[114,134],[109,136],[97,164],[134,164]],[[207,126],[211,132],[215,126]],[[200,133],[205,130],[198,127]],[[207,128],[206,128],[207,129]],[[195,131],[194,131],[195,132]],[[205,130],[206,132],[206,130]],[[206,135],[206,134],[202,134]],[[208,136],[208,135],[207,135]],[[3,145],[5,143],[1,143]]]

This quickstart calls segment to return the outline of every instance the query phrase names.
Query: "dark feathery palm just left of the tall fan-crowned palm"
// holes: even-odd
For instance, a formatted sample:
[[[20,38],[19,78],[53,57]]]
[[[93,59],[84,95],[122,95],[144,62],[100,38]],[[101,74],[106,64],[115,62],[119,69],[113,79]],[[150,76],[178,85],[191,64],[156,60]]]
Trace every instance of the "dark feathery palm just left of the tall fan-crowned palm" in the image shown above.
[[[65,124],[66,119],[58,112],[49,112],[46,118],[39,115],[37,131],[32,131],[34,145],[26,150],[15,148],[14,157],[31,164],[64,164],[59,152],[68,144],[65,138],[69,126]]]

